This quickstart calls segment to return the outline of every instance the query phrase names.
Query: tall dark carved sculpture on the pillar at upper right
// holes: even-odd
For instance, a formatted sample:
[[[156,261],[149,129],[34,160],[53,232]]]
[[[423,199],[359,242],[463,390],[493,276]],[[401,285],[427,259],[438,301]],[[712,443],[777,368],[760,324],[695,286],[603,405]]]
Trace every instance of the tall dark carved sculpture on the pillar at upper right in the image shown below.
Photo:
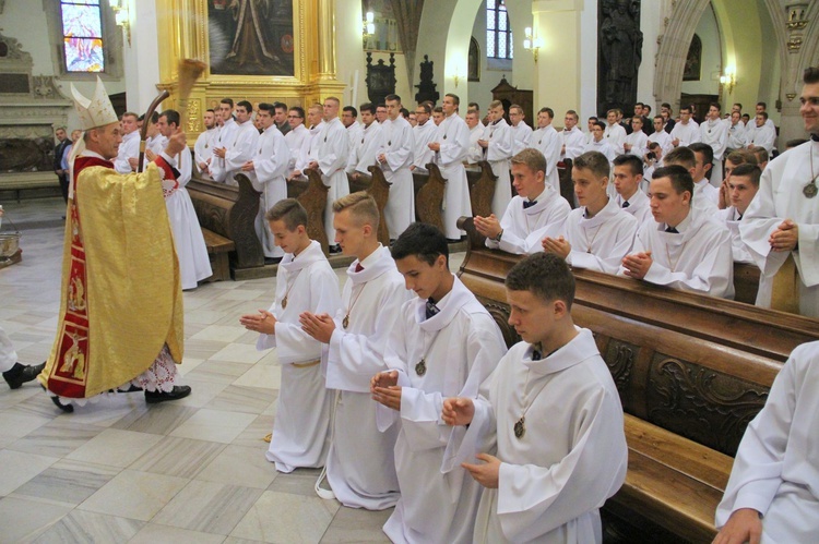
[[[637,100],[637,74],[642,61],[639,0],[602,0],[597,106],[631,111]]]

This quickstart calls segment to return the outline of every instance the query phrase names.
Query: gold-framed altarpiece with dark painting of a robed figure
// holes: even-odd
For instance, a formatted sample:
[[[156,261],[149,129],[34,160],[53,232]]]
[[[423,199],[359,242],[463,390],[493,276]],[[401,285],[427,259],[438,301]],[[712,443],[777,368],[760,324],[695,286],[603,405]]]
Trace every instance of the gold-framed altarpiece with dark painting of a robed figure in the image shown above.
[[[181,59],[204,61],[183,120],[189,142],[222,98],[306,106],[341,95],[333,0],[156,0],[163,108],[176,106]],[[309,32],[308,32],[309,29]]]

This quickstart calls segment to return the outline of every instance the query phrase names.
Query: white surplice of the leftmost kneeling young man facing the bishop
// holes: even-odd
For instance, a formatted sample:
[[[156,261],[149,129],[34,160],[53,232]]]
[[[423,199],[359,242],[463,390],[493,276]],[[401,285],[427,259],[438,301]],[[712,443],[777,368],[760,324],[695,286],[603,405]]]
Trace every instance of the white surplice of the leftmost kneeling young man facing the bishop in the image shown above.
[[[271,132],[282,133],[274,126]],[[286,302],[285,302],[286,299]],[[265,454],[278,472],[323,467],[330,448],[330,414],[335,391],[324,386],[321,342],[301,330],[302,312],[335,315],[341,307],[339,279],[321,245],[312,241],[298,256],[287,253],[276,271],[275,334],[259,335],[259,351],[276,349],[282,368],[273,438]]]

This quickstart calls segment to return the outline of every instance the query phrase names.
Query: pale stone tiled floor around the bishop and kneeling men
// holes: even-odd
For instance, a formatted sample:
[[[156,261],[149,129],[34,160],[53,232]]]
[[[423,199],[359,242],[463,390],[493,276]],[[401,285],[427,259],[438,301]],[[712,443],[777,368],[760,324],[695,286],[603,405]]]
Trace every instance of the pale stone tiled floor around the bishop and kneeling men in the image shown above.
[[[63,208],[2,204],[23,231],[23,262],[0,269],[0,325],[19,359],[38,363],[57,327]],[[390,511],[322,500],[318,471],[278,474],[264,459],[276,354],[257,351],[237,319],[266,309],[274,288],[260,279],[185,293],[180,371],[193,392],[181,401],[149,408],[123,394],[62,414],[36,385],[0,384],[0,542],[388,542]]]

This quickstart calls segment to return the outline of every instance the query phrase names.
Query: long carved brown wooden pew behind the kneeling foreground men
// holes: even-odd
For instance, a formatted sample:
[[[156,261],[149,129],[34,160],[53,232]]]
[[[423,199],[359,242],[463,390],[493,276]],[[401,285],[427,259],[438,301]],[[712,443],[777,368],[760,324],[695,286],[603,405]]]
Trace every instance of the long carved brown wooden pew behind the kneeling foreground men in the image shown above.
[[[508,344],[503,279],[521,258],[471,247],[461,280],[492,314]],[[745,427],[819,321],[736,301],[575,269],[572,317],[594,333],[622,402],[629,469],[604,507],[608,542],[710,542]]]

